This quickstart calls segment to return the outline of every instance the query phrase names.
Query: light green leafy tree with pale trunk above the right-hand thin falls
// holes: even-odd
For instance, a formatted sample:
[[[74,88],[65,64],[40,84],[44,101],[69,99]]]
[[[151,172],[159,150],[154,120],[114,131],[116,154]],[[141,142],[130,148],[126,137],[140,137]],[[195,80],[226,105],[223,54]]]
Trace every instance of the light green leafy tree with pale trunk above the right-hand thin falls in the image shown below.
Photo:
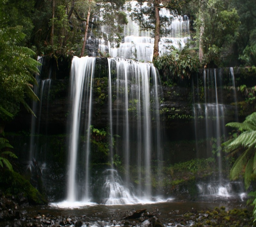
[[[229,7],[228,1],[202,2],[195,20],[195,38],[203,49],[204,64],[220,65],[228,57],[239,25],[239,15],[235,8]]]

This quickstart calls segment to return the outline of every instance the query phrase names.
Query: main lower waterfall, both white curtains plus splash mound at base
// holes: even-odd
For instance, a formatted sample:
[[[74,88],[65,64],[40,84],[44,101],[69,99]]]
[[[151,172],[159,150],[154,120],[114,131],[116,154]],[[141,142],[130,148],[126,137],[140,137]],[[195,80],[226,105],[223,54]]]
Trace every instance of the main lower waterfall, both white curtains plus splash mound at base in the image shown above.
[[[68,159],[67,201],[94,201],[93,191],[100,187],[92,185],[90,173],[90,125],[93,125],[94,57],[74,57],[71,66],[70,140]],[[159,119],[159,78],[153,64],[139,63],[120,58],[108,59],[108,125],[109,163],[111,169],[104,170],[104,179],[97,181],[103,192],[97,199],[105,204],[127,204],[151,201],[152,168],[154,154],[161,170],[162,149]],[[83,113],[83,114],[82,114]],[[118,135],[115,150],[113,136]],[[80,146],[80,139],[84,146]],[[113,156],[124,161],[123,180],[114,170]],[[138,185],[133,185],[131,168],[137,173]],[[134,176],[133,176],[134,178]]]

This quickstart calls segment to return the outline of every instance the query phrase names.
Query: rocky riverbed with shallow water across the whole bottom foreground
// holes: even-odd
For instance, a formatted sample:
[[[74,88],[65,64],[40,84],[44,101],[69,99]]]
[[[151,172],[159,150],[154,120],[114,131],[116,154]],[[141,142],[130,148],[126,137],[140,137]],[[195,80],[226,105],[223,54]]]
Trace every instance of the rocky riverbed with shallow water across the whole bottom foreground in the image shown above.
[[[31,206],[24,197],[0,199],[0,226],[256,226],[252,207],[239,201],[175,201],[106,206],[91,204],[61,208]]]

